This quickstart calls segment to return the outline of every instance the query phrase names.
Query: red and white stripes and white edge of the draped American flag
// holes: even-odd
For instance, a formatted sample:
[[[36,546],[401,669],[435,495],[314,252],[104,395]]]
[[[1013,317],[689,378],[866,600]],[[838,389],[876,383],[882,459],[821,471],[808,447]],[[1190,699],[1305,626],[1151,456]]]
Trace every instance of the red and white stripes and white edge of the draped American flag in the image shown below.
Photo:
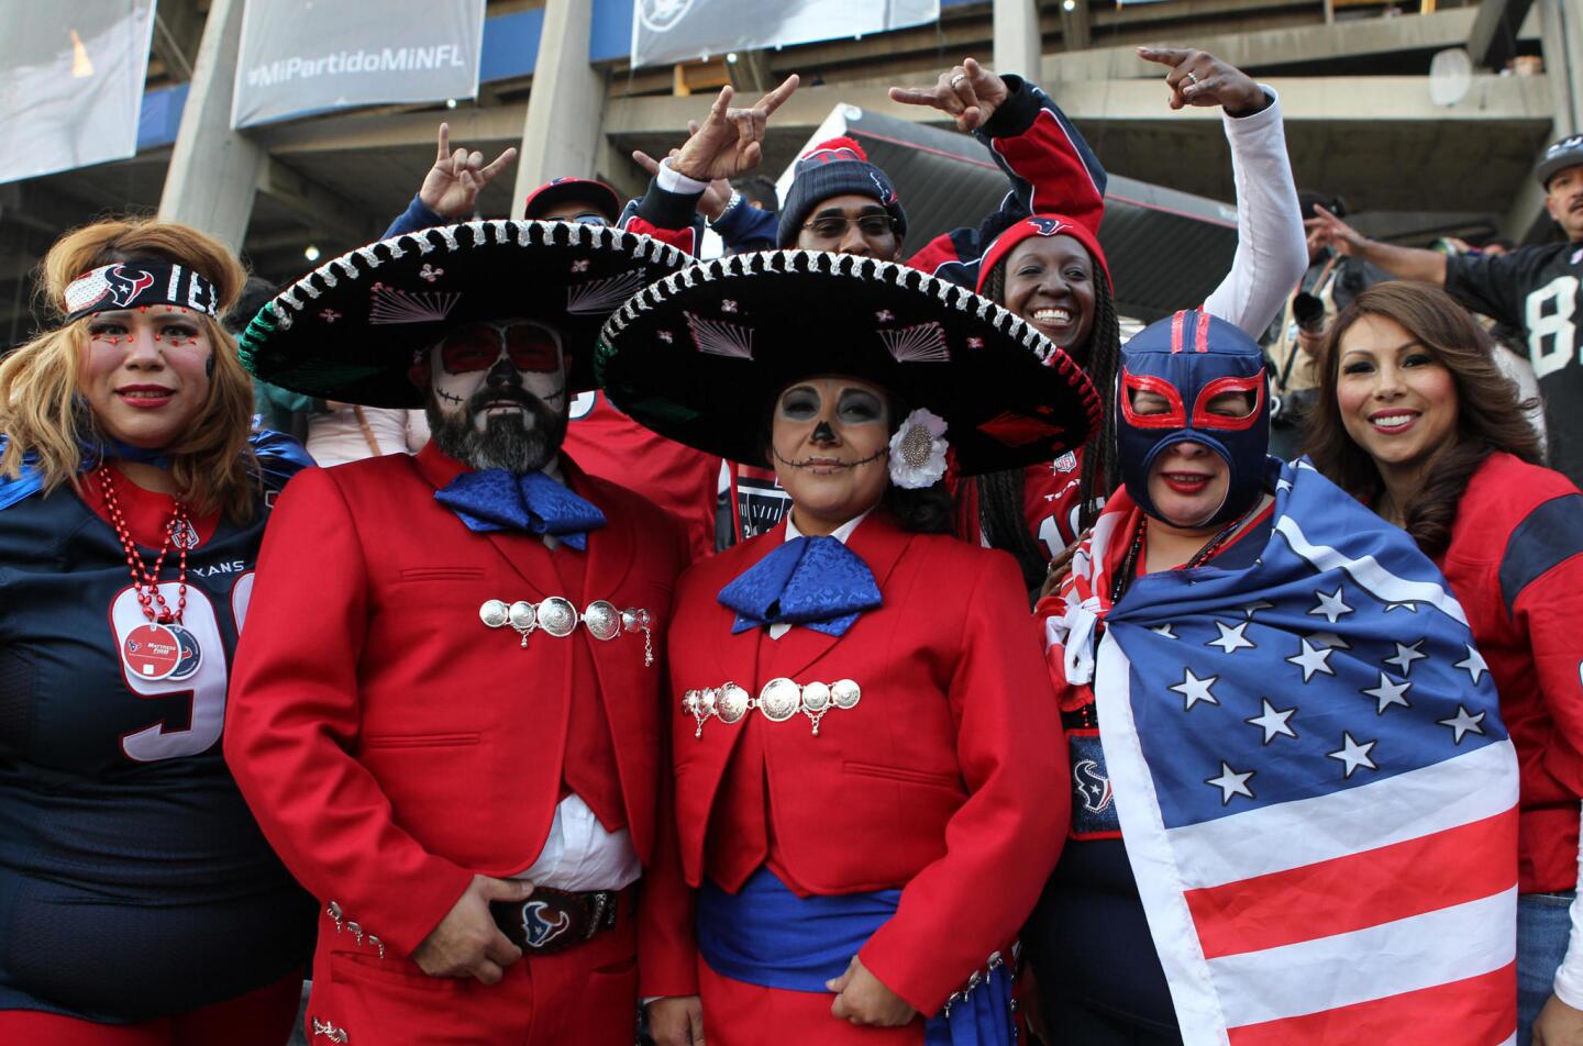
[[[1095,699],[1127,858],[1187,1046],[1517,1033],[1510,741],[1167,829],[1108,635]]]

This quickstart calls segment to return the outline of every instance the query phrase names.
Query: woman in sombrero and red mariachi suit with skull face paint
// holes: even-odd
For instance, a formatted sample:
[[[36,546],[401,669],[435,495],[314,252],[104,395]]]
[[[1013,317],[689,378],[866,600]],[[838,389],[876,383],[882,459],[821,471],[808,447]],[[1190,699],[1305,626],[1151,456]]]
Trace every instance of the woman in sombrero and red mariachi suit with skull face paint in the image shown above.
[[[940,478],[1069,449],[1094,388],[969,290],[823,252],[687,269],[605,340],[621,410],[792,498],[678,582],[657,1040],[1008,1043],[1065,756],[1016,565],[950,536]]]

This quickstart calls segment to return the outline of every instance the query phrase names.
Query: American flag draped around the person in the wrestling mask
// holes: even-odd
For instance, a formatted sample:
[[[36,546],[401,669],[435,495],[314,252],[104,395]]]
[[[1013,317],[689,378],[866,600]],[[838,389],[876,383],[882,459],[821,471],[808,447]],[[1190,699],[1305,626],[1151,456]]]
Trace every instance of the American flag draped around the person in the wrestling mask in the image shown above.
[[[1463,609],[1306,460],[1276,487],[1254,567],[1110,608],[1113,497],[1046,625],[1086,682],[1105,620],[1100,736],[1183,1038],[1515,1041],[1517,758]]]

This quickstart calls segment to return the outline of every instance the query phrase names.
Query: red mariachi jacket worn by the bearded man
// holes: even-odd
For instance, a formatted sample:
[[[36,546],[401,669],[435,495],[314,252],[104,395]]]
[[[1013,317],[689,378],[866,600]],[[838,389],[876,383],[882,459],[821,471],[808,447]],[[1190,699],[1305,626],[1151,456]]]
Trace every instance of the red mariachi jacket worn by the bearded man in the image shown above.
[[[652,858],[659,655],[684,546],[647,502],[562,462],[608,519],[586,552],[470,532],[434,500],[462,465],[432,445],[299,473],[264,535],[225,755],[287,867],[397,957],[473,874],[513,875],[538,856],[573,699],[602,701],[625,823]],[[586,557],[581,576],[570,557]],[[486,600],[576,590],[562,573],[581,581],[579,611],[598,598],[647,609],[655,663],[641,633],[600,642],[578,627],[522,647],[481,622]],[[597,679],[573,673],[573,644]],[[336,930],[321,918],[318,961],[348,948]]]

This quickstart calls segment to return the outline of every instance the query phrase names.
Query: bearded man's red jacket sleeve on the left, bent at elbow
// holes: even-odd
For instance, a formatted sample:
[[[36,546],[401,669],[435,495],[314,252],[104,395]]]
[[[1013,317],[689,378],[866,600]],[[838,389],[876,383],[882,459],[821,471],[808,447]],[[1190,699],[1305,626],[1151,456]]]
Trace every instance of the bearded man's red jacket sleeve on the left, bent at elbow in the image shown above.
[[[451,910],[472,872],[391,817],[350,747],[367,565],[356,522],[321,468],[296,475],[269,519],[225,723],[225,758],[293,875],[397,954]]]

